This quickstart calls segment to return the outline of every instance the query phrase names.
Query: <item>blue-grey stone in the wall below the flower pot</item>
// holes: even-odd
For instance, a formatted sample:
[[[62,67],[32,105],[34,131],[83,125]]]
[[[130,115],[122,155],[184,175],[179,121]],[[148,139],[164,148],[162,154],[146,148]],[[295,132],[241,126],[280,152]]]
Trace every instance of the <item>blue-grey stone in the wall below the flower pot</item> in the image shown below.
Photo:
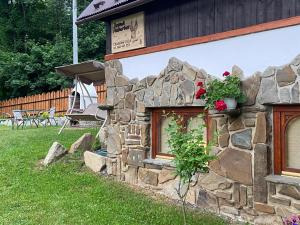
[[[252,149],[252,129],[246,129],[231,135],[232,145],[243,149]]]

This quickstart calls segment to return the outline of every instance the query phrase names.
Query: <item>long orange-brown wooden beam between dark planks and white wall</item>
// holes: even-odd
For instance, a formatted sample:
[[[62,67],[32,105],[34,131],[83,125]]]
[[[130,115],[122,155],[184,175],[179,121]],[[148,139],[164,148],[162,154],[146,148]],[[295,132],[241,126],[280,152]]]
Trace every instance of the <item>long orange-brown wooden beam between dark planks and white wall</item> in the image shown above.
[[[300,16],[294,16],[294,17],[290,17],[287,19],[275,20],[272,22],[261,23],[261,24],[257,24],[257,25],[253,25],[253,26],[249,26],[249,27],[235,29],[235,30],[230,30],[230,31],[195,37],[195,38],[188,38],[185,40],[172,41],[172,42],[161,44],[161,45],[145,47],[145,48],[126,51],[126,52],[108,54],[105,56],[105,61],[128,58],[128,57],[133,57],[133,56],[138,56],[138,55],[145,55],[145,54],[165,51],[165,50],[169,50],[169,49],[175,49],[175,48],[187,47],[187,46],[196,45],[196,44],[208,43],[208,42],[212,42],[212,41],[219,41],[219,40],[238,37],[238,36],[242,36],[242,35],[253,34],[253,33],[258,33],[258,32],[268,31],[268,30],[274,30],[274,29],[279,29],[279,28],[284,28],[284,27],[289,27],[289,26],[294,26],[294,25],[299,25],[299,24],[300,24]]]

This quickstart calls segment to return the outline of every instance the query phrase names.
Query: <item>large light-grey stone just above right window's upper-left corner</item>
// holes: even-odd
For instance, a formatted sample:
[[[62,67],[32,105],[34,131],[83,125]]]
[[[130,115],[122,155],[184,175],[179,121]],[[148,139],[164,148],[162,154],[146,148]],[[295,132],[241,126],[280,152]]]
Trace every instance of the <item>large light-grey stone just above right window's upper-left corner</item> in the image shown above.
[[[273,77],[261,80],[260,96],[258,97],[261,104],[278,103],[278,90]]]

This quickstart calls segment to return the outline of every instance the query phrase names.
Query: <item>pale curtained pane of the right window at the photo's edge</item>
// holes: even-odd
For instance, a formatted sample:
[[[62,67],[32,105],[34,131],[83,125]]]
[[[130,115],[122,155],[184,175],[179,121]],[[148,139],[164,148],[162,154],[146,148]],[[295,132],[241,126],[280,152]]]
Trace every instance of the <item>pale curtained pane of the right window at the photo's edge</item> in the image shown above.
[[[286,133],[287,167],[300,169],[300,118],[289,122]]]

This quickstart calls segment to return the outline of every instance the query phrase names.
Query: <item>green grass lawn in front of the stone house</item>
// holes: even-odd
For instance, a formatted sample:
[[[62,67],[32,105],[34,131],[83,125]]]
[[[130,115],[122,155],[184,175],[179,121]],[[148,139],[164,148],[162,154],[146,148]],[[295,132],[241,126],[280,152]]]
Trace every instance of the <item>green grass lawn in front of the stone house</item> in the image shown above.
[[[120,182],[87,171],[79,160],[41,168],[54,141],[67,147],[83,133],[58,128],[11,130],[0,127],[0,224],[175,225],[180,208],[157,202]],[[189,225],[221,225],[223,220],[191,212]]]

